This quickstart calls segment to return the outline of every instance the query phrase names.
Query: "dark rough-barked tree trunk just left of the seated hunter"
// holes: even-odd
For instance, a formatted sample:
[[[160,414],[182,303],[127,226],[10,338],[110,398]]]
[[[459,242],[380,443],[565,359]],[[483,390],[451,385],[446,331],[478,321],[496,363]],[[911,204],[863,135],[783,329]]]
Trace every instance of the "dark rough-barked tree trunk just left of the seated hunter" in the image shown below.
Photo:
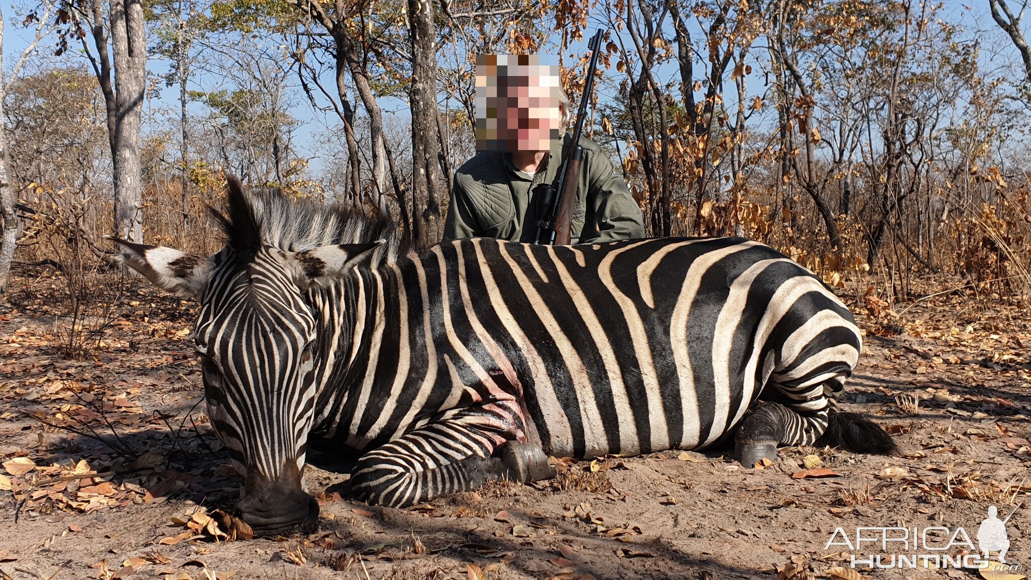
[[[431,0],[408,0],[411,39],[412,240],[418,249],[440,241],[442,226],[437,187],[436,30]],[[402,200],[398,200],[403,202]]]

